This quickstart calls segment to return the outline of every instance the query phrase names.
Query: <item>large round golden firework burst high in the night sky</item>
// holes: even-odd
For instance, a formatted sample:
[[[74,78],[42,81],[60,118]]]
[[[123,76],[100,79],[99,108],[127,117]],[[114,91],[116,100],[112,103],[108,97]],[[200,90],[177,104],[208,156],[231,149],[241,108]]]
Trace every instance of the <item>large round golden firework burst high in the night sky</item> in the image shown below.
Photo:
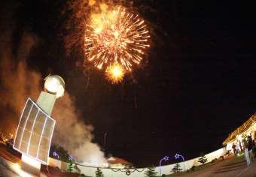
[[[149,47],[150,37],[144,20],[124,7],[105,7],[93,13],[84,35],[84,52],[96,68],[121,65],[122,72],[139,65]],[[108,73],[108,72],[107,72]]]

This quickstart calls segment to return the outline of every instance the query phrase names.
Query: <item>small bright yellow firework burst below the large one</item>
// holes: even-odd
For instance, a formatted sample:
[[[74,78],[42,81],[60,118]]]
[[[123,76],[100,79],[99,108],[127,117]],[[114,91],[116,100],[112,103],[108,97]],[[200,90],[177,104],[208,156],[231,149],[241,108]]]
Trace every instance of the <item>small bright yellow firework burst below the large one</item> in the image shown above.
[[[120,83],[123,80],[124,71],[123,68],[118,64],[108,66],[105,71],[105,76],[111,83]]]

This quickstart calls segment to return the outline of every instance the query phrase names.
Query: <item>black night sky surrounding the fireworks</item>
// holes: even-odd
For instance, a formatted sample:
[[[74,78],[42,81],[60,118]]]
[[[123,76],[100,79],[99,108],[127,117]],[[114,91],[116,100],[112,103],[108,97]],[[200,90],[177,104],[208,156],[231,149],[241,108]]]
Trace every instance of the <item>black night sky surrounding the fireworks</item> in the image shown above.
[[[30,68],[64,77],[102,148],[107,133],[106,155],[137,166],[157,165],[165,155],[173,162],[176,152],[197,157],[221,148],[255,111],[255,15],[249,3],[137,1],[154,32],[147,65],[119,85],[93,72],[87,88],[75,66],[79,58],[67,56],[63,46],[66,1],[11,1],[2,10],[5,4],[17,5],[14,43],[24,28],[41,38]]]

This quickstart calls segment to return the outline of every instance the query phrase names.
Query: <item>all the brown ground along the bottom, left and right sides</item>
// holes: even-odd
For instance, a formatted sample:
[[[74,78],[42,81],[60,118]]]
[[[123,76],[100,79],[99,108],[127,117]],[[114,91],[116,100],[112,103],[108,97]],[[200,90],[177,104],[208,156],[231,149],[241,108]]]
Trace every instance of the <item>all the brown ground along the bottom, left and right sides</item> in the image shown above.
[[[19,175],[15,175],[13,172],[9,171],[2,164],[1,159],[5,158],[6,160],[11,161],[12,163],[20,163],[20,154],[13,154],[13,152],[8,151],[6,146],[0,144],[0,177],[6,176],[14,176],[19,177]],[[77,177],[78,174],[68,173],[68,172],[60,172],[59,169],[52,168],[48,166],[48,170],[46,166],[41,166],[41,171],[44,176],[67,176],[67,177]],[[166,175],[167,177],[179,176],[179,177],[253,177],[256,176],[256,160],[251,163],[250,166],[246,166],[244,155],[240,155],[235,157],[230,155],[226,157],[222,161],[218,161],[215,163],[206,163],[206,165],[197,167],[194,172],[184,172],[180,174],[172,174]]]

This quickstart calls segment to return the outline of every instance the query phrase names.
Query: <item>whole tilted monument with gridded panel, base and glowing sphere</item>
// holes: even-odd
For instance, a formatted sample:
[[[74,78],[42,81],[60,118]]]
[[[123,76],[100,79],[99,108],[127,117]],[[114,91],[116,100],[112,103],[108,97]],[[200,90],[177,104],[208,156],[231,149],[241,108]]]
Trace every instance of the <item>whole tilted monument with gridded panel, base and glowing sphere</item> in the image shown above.
[[[14,149],[22,154],[22,169],[40,175],[41,163],[48,164],[56,121],[50,116],[56,98],[64,94],[65,82],[57,75],[45,78],[38,100],[28,98],[14,138]]]

